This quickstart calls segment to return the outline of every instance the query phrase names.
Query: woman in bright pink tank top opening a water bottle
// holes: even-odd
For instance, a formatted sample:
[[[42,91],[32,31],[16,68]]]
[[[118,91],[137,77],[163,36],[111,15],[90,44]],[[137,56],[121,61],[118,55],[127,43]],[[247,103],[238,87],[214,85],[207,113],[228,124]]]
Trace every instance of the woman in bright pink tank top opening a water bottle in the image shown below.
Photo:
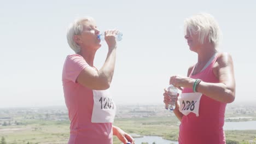
[[[181,121],[179,144],[222,144],[225,107],[235,100],[232,58],[219,52],[220,29],[210,14],[197,14],[185,20],[185,39],[197,53],[197,63],[187,77],[171,76],[170,84],[182,90],[173,110]],[[171,99],[164,93],[164,103]]]

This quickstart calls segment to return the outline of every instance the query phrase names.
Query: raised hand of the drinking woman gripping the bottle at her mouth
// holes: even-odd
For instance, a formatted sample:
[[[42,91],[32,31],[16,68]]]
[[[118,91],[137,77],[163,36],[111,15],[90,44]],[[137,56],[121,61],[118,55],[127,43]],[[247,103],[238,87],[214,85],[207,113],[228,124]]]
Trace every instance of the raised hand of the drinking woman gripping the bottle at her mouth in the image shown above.
[[[112,50],[117,47],[117,40],[115,40],[115,36],[118,33],[118,29],[111,29],[105,32],[105,40],[108,44],[108,49]]]

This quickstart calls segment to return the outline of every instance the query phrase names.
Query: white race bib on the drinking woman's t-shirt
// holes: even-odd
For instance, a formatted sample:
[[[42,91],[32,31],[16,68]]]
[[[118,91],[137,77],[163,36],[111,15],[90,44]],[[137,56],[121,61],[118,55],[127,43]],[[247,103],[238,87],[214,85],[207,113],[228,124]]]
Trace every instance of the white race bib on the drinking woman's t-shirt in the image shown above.
[[[92,123],[113,123],[116,106],[108,90],[96,91],[94,94],[94,109],[92,110]]]

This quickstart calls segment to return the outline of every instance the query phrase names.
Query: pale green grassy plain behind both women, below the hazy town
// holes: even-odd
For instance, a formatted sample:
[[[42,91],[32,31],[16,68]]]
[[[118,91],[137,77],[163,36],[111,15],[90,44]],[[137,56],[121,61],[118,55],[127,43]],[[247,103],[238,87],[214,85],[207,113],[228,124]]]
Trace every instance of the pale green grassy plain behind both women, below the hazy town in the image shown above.
[[[175,117],[120,118],[114,125],[129,134],[156,135],[167,140],[178,139],[178,122]],[[225,131],[226,139],[240,143],[256,140],[256,130]],[[7,143],[67,143],[69,121],[42,121],[26,119],[22,125],[0,127],[0,136]],[[114,137],[114,143],[120,143]],[[139,143],[140,144],[140,143]]]

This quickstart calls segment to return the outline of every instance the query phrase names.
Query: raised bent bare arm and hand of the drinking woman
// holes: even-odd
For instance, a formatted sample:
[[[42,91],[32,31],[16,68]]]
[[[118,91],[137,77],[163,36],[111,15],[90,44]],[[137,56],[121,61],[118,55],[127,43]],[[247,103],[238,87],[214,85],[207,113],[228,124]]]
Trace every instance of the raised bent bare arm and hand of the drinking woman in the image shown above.
[[[77,82],[81,85],[96,89],[104,90],[110,87],[115,68],[115,56],[117,51],[117,42],[115,41],[115,31],[107,31],[105,40],[108,44],[108,54],[100,70],[92,67],[86,67],[77,77]]]

